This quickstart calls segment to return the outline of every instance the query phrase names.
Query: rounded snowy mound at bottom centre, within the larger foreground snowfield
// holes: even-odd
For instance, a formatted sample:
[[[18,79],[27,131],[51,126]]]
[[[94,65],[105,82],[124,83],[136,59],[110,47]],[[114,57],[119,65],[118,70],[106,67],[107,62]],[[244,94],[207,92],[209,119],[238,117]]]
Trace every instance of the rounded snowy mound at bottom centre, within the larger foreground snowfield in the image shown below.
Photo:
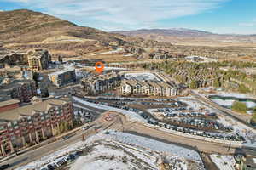
[[[158,169],[157,154],[150,155],[131,145],[117,143],[113,140],[89,144],[91,151],[80,156],[70,170],[109,170],[109,169]]]

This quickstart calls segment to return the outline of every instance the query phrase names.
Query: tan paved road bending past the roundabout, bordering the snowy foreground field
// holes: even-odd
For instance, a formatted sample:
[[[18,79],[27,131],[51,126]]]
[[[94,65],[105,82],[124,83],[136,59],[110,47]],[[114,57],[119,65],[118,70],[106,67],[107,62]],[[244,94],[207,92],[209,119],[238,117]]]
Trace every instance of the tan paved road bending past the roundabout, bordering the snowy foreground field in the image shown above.
[[[119,131],[137,133],[140,135],[148,136],[149,138],[162,140],[166,143],[184,144],[186,146],[197,147],[199,150],[207,153],[234,154],[236,152],[236,148],[230,148],[230,146],[225,144],[210,143],[200,139],[189,139],[187,137],[160,131],[157,127],[147,127],[141,123],[128,122],[126,120],[126,117],[119,113],[112,112],[111,114],[114,117],[113,121],[105,121],[103,117],[108,115],[108,113],[106,113],[98,117],[93,123],[96,123],[97,125],[102,125],[102,130],[115,129]],[[56,150],[61,150],[70,144],[74,144],[80,141],[82,139],[82,133],[84,132],[79,130],[74,133],[73,136],[69,139],[59,140],[54,143],[47,144],[41,148],[38,148],[37,150],[28,151],[20,156],[16,156],[10,159],[9,161],[5,161],[2,164],[9,163],[13,167],[20,167],[21,165],[25,165],[29,162],[38,160],[43,156],[47,156],[50,153],[55,152]],[[85,134],[85,138],[94,133],[96,133],[96,131],[90,130],[90,133]]]

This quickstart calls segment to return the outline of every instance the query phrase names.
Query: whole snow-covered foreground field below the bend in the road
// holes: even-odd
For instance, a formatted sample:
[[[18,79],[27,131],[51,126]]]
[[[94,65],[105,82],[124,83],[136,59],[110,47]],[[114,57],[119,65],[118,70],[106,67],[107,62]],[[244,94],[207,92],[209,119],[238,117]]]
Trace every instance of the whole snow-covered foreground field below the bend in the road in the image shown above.
[[[159,169],[161,160],[180,170],[204,169],[201,157],[195,150],[109,130],[96,133],[84,142],[70,145],[16,170],[40,169],[49,163],[63,159],[75,150],[87,150],[87,152],[73,163],[71,170],[134,168],[150,170]]]

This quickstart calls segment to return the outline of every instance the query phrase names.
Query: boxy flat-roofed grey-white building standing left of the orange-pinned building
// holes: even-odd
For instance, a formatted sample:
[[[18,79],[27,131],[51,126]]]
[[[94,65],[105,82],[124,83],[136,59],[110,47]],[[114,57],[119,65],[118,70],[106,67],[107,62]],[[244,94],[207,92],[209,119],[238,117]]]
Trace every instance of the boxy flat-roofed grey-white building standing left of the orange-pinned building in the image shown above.
[[[58,88],[68,82],[76,82],[76,72],[74,69],[57,71],[49,74],[49,80]]]

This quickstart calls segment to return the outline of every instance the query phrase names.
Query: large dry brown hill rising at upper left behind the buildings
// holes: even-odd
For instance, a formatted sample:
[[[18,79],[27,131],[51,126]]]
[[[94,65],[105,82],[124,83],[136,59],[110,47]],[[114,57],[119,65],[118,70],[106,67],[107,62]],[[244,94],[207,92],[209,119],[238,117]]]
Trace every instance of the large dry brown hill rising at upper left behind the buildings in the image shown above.
[[[52,54],[78,56],[122,45],[122,38],[31,10],[0,13],[0,42],[7,48],[47,48]]]

